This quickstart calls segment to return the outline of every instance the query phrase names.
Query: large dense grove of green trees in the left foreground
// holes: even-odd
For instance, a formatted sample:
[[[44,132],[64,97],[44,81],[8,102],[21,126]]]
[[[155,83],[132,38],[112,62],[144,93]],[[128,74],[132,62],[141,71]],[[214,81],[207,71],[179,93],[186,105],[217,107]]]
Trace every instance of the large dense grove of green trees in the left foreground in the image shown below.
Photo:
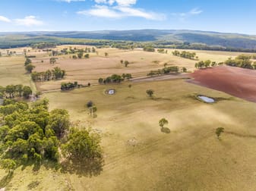
[[[99,136],[71,128],[68,111],[54,109],[49,112],[48,105],[48,100],[43,99],[31,106],[5,100],[0,106],[4,118],[0,127],[2,168],[28,161],[36,164],[43,160],[58,162],[60,151],[71,160],[102,157]]]

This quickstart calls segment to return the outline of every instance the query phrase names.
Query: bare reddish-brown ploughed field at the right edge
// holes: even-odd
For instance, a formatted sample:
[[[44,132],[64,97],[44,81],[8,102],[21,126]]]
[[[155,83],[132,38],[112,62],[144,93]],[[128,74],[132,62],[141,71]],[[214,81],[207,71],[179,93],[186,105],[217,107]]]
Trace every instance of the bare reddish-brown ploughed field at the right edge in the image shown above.
[[[196,70],[190,76],[190,83],[256,102],[256,70],[223,66]]]

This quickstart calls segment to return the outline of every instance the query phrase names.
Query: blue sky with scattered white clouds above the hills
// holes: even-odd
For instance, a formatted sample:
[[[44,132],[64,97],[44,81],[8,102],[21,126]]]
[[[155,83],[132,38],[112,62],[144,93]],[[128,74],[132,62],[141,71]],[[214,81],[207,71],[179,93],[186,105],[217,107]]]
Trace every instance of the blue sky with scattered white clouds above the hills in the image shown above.
[[[185,29],[256,35],[254,0],[0,0],[0,31]]]

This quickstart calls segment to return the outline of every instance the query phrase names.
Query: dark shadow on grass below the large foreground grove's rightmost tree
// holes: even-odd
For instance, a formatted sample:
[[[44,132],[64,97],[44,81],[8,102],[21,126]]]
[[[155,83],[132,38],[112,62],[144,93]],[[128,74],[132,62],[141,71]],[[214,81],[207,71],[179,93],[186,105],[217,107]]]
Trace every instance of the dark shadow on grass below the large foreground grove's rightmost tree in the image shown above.
[[[103,171],[103,158],[94,158],[87,160],[67,159],[61,166],[62,173],[77,174],[82,177],[96,177]]]

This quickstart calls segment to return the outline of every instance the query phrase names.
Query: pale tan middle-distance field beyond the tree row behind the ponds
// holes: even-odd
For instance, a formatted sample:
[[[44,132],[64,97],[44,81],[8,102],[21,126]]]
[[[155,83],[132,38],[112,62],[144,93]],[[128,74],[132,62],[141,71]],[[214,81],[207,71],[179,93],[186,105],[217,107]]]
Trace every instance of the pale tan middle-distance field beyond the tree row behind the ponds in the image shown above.
[[[55,50],[61,50],[69,47],[77,49],[90,46],[85,45],[60,45]],[[49,55],[46,52],[30,51],[28,55],[36,55],[32,58],[36,66],[35,71],[45,71],[53,67],[61,67],[66,70],[67,75],[63,80],[36,83],[40,91],[49,89],[58,89],[62,82],[77,81],[81,84],[97,83],[100,77],[108,77],[112,74],[131,74],[133,77],[144,77],[150,70],[163,68],[163,64],[177,65],[187,67],[188,71],[194,71],[196,60],[180,58],[172,55],[173,49],[168,49],[168,54],[157,52],[144,52],[141,49],[120,50],[120,49],[96,49],[96,53],[90,53],[89,59],[72,59],[72,55],[60,55],[56,64],[49,64]],[[180,50],[182,51],[182,50]],[[199,60],[225,61],[229,57],[239,55],[239,52],[210,52],[210,51],[191,51],[196,52]],[[109,55],[105,57],[105,52]],[[121,64],[120,61],[130,62],[128,67]],[[43,61],[43,63],[42,63]]]

